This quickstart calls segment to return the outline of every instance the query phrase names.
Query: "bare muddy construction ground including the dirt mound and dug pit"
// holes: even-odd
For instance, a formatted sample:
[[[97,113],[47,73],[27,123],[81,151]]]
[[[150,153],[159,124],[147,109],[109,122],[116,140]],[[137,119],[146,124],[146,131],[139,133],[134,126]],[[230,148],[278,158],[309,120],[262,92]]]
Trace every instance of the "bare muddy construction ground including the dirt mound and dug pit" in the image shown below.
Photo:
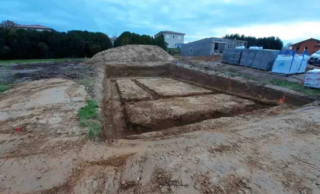
[[[272,84],[302,75],[146,45],[1,71],[19,83],[0,96],[0,193],[320,193],[317,89]],[[92,140],[78,114],[88,99]]]

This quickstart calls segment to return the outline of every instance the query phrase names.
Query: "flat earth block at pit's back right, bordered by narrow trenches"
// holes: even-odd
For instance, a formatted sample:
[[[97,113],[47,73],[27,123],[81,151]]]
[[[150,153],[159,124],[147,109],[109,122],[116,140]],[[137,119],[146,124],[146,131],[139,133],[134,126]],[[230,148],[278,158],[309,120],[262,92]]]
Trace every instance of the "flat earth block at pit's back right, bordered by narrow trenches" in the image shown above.
[[[160,97],[186,97],[192,95],[206,95],[214,92],[199,86],[170,78],[144,78],[136,80],[142,87],[156,93]]]

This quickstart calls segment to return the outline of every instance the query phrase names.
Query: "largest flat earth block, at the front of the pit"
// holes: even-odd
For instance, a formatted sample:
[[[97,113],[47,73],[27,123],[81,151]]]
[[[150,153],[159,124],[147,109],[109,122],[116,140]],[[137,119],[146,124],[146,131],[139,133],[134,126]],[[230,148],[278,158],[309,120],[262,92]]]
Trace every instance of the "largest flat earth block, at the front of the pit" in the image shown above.
[[[126,103],[127,125],[136,132],[167,129],[255,110],[255,102],[225,94]]]

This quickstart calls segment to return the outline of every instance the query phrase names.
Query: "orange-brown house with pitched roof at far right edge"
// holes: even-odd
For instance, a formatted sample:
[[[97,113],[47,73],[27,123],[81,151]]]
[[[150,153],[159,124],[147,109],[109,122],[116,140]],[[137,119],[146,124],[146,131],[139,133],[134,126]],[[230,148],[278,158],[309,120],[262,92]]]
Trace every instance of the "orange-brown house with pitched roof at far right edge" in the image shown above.
[[[292,47],[292,50],[295,50],[299,53],[303,53],[303,51],[314,53],[320,49],[320,40],[315,38],[309,38],[307,40],[292,44],[290,46]]]

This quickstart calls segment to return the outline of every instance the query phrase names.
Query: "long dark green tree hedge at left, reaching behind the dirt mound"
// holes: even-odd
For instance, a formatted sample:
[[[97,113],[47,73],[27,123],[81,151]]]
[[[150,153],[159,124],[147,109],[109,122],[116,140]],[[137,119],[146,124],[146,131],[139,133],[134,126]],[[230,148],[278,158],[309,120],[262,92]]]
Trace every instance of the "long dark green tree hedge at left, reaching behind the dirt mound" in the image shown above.
[[[112,48],[110,38],[102,32],[36,31],[14,28],[15,25],[9,20],[0,23],[0,60],[84,58]],[[114,47],[132,44],[158,45],[166,49],[163,36],[153,38],[123,32],[114,41]]]

